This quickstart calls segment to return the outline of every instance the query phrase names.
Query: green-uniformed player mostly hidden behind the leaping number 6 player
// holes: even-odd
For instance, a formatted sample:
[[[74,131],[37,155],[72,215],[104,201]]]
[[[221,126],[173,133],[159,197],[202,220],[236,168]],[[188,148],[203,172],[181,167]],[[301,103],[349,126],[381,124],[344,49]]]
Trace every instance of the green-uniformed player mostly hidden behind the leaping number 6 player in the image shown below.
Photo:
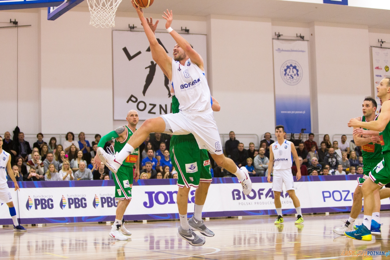
[[[152,32],[157,28],[158,20],[153,24],[152,18],[147,19],[148,25],[151,28]],[[166,77],[166,76],[165,76]],[[177,100],[175,93],[170,93],[172,95],[172,113],[179,113],[179,101]],[[213,105],[211,109],[213,111],[219,111],[220,105],[218,101],[211,97],[213,100]],[[209,230],[206,225],[204,225],[202,220],[202,209],[206,201],[207,191],[213,180],[210,172],[210,159],[207,154],[206,149],[199,149],[199,145],[195,140],[193,134],[183,134],[183,135],[174,135],[170,140],[170,157],[172,158],[172,166],[179,171],[177,186],[179,190],[177,192],[177,207],[179,208],[179,216],[181,221],[180,229],[178,232],[179,237],[187,240],[187,237],[192,235],[195,237],[194,243],[188,241],[191,245],[201,246],[206,242],[203,238],[199,237],[196,233],[191,233],[190,235],[184,235],[183,230],[192,230],[199,231],[202,235],[207,237],[213,237],[214,232]],[[195,167],[193,170],[185,171],[186,164],[194,164]],[[195,191],[195,208],[192,218],[186,222],[187,219],[187,207],[188,207],[188,193],[190,192],[190,186],[196,187]]]

